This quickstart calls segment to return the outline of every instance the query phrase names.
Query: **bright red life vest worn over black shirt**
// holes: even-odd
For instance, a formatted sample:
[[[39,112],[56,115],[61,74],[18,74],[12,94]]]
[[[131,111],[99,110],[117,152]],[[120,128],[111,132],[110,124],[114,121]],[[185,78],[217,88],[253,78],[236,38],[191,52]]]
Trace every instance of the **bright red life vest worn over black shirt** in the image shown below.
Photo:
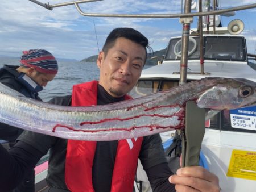
[[[72,106],[97,105],[98,81],[73,86]],[[131,99],[128,95],[125,99]],[[119,140],[111,192],[131,192],[143,137]],[[92,166],[96,141],[68,140],[65,183],[72,192],[94,192]],[[99,173],[100,174],[100,173]]]

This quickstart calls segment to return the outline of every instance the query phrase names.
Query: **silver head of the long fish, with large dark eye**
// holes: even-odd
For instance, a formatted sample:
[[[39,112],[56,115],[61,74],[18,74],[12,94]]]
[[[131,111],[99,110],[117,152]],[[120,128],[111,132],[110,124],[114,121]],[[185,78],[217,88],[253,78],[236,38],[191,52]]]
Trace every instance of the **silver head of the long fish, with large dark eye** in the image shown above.
[[[207,81],[206,81],[207,84]],[[256,105],[256,82],[245,78],[216,78],[197,99],[197,106],[230,110]]]

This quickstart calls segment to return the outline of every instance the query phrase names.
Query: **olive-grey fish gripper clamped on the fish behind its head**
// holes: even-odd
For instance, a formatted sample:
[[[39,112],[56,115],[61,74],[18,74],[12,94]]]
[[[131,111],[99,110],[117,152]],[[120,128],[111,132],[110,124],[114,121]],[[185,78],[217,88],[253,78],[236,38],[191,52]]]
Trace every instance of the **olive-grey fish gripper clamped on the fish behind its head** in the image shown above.
[[[194,101],[186,103],[185,129],[182,138],[182,166],[199,165],[201,144],[205,133],[205,110]]]

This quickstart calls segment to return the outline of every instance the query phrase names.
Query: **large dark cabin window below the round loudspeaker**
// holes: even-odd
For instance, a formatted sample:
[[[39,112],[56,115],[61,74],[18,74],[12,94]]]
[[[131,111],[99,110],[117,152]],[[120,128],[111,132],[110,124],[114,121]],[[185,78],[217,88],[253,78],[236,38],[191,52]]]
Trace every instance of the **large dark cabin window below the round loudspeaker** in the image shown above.
[[[204,59],[246,61],[243,37],[208,36],[204,41]]]

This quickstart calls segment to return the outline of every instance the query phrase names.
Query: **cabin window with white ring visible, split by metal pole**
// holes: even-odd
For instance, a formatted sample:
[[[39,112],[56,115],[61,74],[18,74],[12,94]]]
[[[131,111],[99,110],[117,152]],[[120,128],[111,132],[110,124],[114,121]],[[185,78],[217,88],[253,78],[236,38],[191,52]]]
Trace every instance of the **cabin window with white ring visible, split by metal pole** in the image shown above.
[[[181,38],[171,39],[164,60],[180,60],[181,57]],[[189,37],[188,59],[199,59],[200,38],[198,36]]]

